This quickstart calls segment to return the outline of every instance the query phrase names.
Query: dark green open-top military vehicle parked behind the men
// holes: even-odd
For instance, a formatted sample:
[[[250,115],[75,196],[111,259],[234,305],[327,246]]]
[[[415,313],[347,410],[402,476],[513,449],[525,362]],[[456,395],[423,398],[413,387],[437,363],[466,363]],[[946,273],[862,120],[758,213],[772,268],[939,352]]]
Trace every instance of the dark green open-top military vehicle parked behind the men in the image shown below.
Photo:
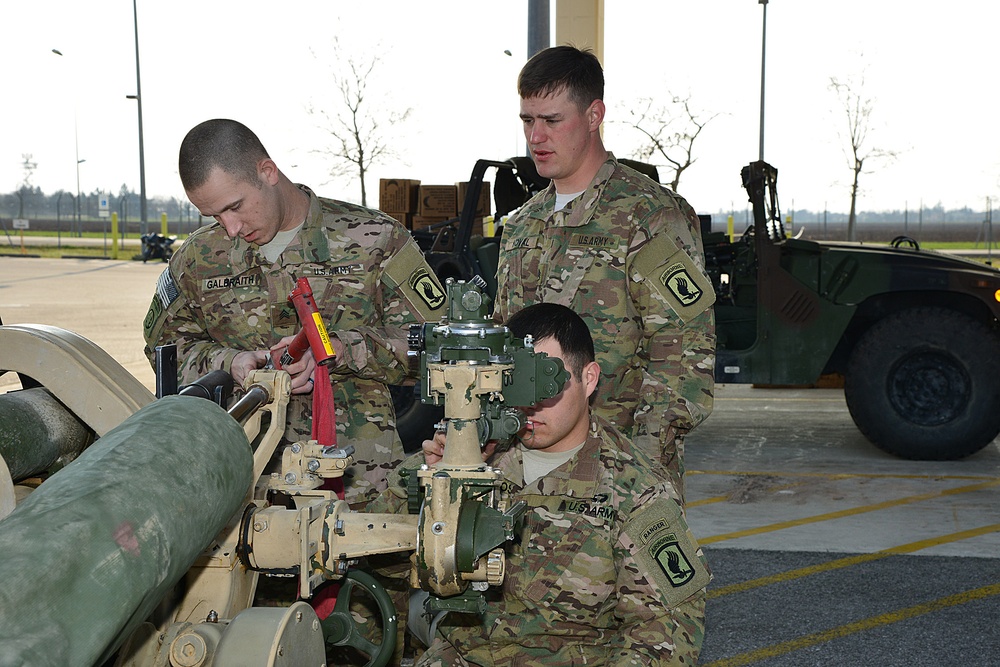
[[[623,162],[659,180],[655,167]],[[475,186],[489,168],[500,185],[498,220],[547,184],[527,158],[477,162],[462,214],[414,232],[443,277],[495,280],[499,243],[471,234]],[[959,459],[992,442],[1000,433],[1000,272],[905,236],[887,246],[788,238],[777,175],[763,161],[743,168],[753,224],[739,238],[702,220],[717,294],[716,381],[842,385],[861,432],[902,458]],[[434,413],[401,394],[400,433],[419,447]]]

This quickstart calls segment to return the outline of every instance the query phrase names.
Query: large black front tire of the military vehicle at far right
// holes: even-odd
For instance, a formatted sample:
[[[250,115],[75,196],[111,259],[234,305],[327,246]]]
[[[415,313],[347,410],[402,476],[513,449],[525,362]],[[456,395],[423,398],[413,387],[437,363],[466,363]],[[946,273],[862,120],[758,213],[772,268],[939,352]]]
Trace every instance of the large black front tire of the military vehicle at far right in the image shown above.
[[[844,396],[880,449],[913,460],[964,458],[1000,433],[1000,337],[946,308],[900,311],[858,341]]]

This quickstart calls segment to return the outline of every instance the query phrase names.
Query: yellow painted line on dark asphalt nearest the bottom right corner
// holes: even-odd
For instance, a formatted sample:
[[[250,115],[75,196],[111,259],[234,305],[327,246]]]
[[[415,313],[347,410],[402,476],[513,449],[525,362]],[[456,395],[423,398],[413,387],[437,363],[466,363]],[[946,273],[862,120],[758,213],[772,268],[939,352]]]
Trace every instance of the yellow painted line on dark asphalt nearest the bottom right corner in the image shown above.
[[[756,651],[741,653],[740,655],[734,655],[730,658],[716,660],[715,662],[702,665],[702,667],[739,667],[740,665],[749,665],[761,660],[776,658],[778,656],[785,655],[786,653],[815,646],[816,644],[822,644],[834,639],[840,639],[841,637],[846,637],[856,632],[891,625],[892,623],[905,621],[916,616],[922,616],[924,614],[940,611],[949,607],[955,607],[960,604],[965,604],[966,602],[982,600],[983,598],[992,597],[994,595],[1000,595],[1000,584],[991,584],[990,586],[974,588],[971,591],[965,591],[964,593],[956,593],[955,595],[949,595],[937,600],[931,600],[930,602],[925,602],[923,604],[898,609],[886,614],[880,614],[879,616],[872,616],[860,621],[830,628],[829,630],[823,630],[822,632],[805,635],[804,637],[799,637],[798,639],[792,639],[787,642],[765,646],[764,648],[757,649]]]

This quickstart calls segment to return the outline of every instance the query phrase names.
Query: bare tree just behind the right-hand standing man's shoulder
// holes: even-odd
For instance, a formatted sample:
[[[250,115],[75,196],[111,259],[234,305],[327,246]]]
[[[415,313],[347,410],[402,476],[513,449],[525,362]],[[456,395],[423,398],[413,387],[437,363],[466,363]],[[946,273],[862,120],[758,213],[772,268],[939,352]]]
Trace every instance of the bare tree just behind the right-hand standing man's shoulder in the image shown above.
[[[629,119],[620,121],[638,130],[645,137],[632,155],[648,162],[660,156],[673,169],[670,188],[677,191],[684,173],[697,158],[694,157],[694,142],[712,119],[713,114],[701,120],[691,108],[691,97],[670,95],[670,102],[657,104],[653,98],[640,98],[628,109]]]

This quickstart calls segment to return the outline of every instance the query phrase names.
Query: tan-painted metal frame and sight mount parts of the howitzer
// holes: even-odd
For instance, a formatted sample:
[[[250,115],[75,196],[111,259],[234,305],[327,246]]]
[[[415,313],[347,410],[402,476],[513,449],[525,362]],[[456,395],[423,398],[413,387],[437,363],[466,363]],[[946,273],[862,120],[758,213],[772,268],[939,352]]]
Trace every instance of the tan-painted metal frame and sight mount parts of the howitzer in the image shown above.
[[[450,480],[458,479],[458,488],[472,483],[478,489],[478,502],[501,512],[506,509],[499,473],[482,462],[475,424],[480,398],[499,398],[509,366],[445,366],[434,369],[440,381],[436,390],[444,396],[453,425],[465,428],[452,429],[446,461],[419,473],[432,505],[425,512],[425,525],[417,515],[353,512],[332,491],[319,488],[325,480],[344,474],[353,463],[350,451],[312,440],[279,451],[290,378],[283,371],[252,372],[247,385],[260,389],[265,404],[243,424],[253,448],[256,479],[247,489],[244,510],[202,553],[174,597],[164,601],[158,625],[143,623],[127,638],[116,664],[323,664],[322,631],[308,605],[252,607],[260,576],[256,568],[297,571],[298,593],[308,598],[324,582],[345,576],[364,556],[424,550],[412,559],[422,563],[420,576],[412,578],[426,582],[438,595],[460,592],[470,581],[477,588],[498,585],[503,577],[502,549],[480,558],[473,572],[457,567],[459,516],[470,498],[464,492],[453,494]],[[0,326],[0,368],[41,383],[98,435],[155,400],[103,350],[57,327]],[[5,472],[0,462],[0,513],[14,493]],[[481,489],[490,485],[496,488],[484,498]],[[272,505],[275,494],[286,496],[288,506]],[[247,562],[241,560],[241,549]]]

